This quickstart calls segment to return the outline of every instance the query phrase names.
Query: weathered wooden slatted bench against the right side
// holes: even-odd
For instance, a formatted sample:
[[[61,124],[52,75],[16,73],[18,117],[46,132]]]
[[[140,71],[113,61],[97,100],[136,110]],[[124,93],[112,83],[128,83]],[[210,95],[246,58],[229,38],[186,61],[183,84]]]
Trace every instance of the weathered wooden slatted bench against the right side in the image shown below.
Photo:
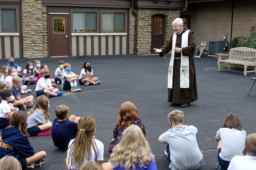
[[[228,70],[231,64],[239,64],[244,65],[244,75],[247,75],[247,72],[256,74],[256,49],[236,47],[230,49],[230,54],[226,56],[229,56],[227,60],[221,60],[221,56],[218,57],[218,71],[221,71],[221,63],[228,63]],[[247,66],[254,66],[254,70],[247,71]]]

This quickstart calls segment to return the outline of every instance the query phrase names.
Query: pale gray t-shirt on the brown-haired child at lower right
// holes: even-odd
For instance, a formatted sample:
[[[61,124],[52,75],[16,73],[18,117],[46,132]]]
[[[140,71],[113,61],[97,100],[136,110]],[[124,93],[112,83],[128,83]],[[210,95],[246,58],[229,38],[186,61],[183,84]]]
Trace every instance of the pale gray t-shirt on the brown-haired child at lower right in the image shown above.
[[[221,139],[221,153],[219,156],[224,161],[231,161],[231,159],[240,155],[243,156],[244,142],[246,138],[246,132],[237,129],[221,128],[216,134],[218,139]]]

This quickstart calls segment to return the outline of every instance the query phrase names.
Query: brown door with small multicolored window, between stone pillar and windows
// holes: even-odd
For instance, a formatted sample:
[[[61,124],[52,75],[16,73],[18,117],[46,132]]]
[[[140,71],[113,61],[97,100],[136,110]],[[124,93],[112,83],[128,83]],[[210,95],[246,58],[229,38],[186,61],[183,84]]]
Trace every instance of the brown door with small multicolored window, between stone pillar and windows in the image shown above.
[[[69,34],[68,34],[68,15],[50,15],[50,56],[64,57],[69,56]]]

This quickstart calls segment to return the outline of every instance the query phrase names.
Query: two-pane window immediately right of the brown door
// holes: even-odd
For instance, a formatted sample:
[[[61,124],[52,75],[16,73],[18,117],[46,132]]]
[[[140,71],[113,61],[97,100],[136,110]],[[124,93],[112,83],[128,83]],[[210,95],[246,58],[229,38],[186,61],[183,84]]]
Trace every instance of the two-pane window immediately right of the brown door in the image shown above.
[[[97,12],[73,12],[73,32],[97,32]]]

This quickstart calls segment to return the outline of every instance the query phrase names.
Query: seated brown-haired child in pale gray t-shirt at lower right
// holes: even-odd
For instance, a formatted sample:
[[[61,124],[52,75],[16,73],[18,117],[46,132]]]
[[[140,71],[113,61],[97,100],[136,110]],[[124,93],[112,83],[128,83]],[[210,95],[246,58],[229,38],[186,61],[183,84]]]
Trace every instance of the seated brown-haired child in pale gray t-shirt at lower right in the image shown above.
[[[222,128],[217,131],[215,141],[218,142],[218,163],[216,169],[227,170],[231,159],[242,156],[246,132],[242,130],[241,121],[236,114],[227,114]]]

